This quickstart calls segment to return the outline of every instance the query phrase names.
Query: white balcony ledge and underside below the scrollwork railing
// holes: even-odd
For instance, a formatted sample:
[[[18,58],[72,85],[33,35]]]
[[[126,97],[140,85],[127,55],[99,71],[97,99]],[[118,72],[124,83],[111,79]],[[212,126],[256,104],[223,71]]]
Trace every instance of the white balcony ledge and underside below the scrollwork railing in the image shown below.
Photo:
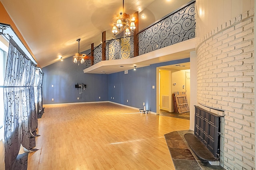
[[[131,70],[134,66],[140,68],[150,64],[186,59],[190,57],[190,52],[195,51],[195,48],[196,38],[192,38],[137,57],[101,61],[84,69],[84,73],[111,74]]]

